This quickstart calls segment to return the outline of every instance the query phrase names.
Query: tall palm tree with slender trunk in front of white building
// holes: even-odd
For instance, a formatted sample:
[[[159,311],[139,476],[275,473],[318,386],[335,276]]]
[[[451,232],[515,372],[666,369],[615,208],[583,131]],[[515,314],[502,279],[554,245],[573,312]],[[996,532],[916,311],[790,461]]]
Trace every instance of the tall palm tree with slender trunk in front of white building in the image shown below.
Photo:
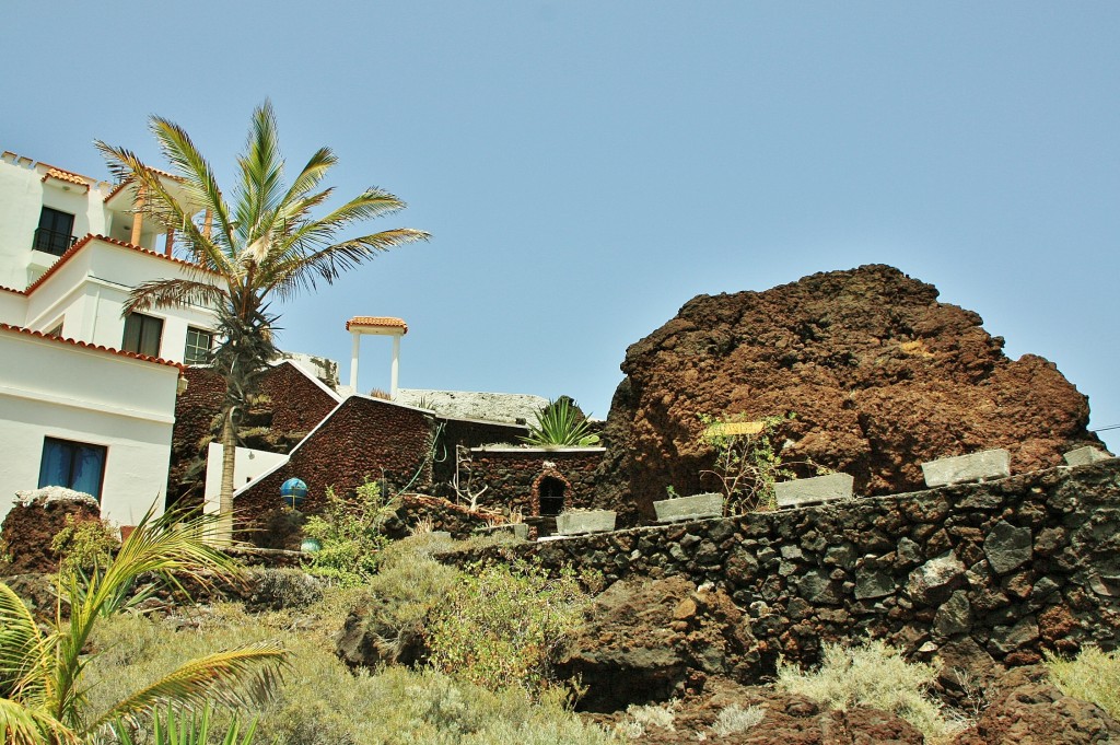
[[[124,313],[189,304],[217,310],[217,330],[224,341],[213,355],[214,366],[226,381],[220,513],[224,519],[222,540],[228,541],[233,531],[235,418],[276,355],[271,332],[277,316],[269,313],[269,302],[314,290],[317,280],[329,285],[379,252],[429,235],[402,227],[337,240],[352,223],[396,212],[404,203],[371,187],[325,216],[314,217],[312,211],[332,195],[332,188],[319,184],[337,158],[320,148],[286,188],[276,117],[268,101],[253,112],[245,152],[237,159],[240,181],[232,203],[226,202],[209,164],[180,127],[152,117],[150,129],[181,181],[177,189],[186,196],[174,196],[159,174],[133,152],[101,141],[96,145],[118,179],[137,184],[144,197],[144,213],[176,231],[176,248],[197,270],[189,279],[140,285],[130,294]],[[207,215],[202,226],[193,220],[199,211]]]

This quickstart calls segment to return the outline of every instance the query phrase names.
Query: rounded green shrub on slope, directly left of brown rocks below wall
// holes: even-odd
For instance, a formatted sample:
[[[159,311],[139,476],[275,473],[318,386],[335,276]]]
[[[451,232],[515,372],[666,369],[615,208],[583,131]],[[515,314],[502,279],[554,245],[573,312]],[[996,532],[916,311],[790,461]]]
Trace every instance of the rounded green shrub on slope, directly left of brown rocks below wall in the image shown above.
[[[550,578],[525,561],[473,567],[429,617],[431,663],[491,690],[539,695],[554,682],[552,658],[589,599],[570,570]]]

